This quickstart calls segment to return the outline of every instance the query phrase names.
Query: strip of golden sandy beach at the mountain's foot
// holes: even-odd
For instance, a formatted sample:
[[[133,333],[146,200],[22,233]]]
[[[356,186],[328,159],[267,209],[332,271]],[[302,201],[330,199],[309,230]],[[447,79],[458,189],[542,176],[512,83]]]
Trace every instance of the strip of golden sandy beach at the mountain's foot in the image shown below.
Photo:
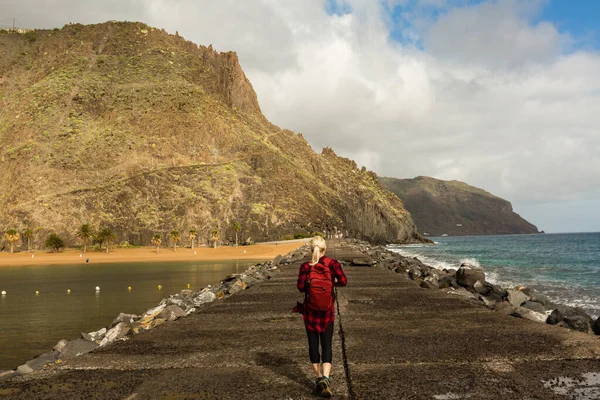
[[[52,265],[52,264],[81,264],[89,258],[90,264],[122,263],[122,262],[167,262],[167,261],[225,261],[225,260],[271,260],[279,254],[287,254],[302,246],[303,242],[290,243],[276,242],[256,244],[252,246],[227,246],[227,247],[179,247],[177,251],[172,248],[161,248],[156,254],[155,247],[142,247],[136,249],[111,249],[105,251],[88,251],[68,249],[60,253],[50,253],[45,250],[20,253],[0,253],[0,267],[23,265]],[[194,251],[196,252],[194,254]],[[32,257],[33,255],[33,257]]]

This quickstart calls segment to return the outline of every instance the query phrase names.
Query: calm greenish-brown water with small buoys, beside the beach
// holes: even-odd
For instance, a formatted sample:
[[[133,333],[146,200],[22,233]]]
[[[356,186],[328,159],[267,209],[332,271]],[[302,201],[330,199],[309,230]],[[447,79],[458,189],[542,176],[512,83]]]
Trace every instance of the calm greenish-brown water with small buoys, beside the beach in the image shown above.
[[[50,351],[60,339],[96,331],[121,312],[142,313],[188,284],[199,290],[253,264],[244,260],[2,267],[0,292],[7,294],[0,295],[0,370]]]

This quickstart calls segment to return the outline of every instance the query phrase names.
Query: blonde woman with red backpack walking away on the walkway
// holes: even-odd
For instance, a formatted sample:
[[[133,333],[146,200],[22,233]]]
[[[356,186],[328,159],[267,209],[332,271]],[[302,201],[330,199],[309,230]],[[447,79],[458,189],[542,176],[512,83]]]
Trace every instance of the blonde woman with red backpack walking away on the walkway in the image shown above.
[[[346,286],[347,279],[340,263],[337,260],[325,257],[325,250],[327,250],[325,239],[315,236],[311,241],[311,249],[312,260],[300,266],[297,287],[300,292],[305,293],[304,306],[301,312],[306,327],[306,335],[308,336],[310,362],[317,374],[317,391],[323,397],[331,397],[333,391],[329,373],[331,371],[331,342],[333,340],[335,316],[335,290],[333,286]],[[311,279],[313,281],[312,290]],[[323,279],[331,279],[331,282],[324,282]],[[315,292],[317,287],[321,289],[320,293]],[[325,298],[327,296],[330,296],[330,298]],[[319,355],[319,342],[321,343],[322,355]],[[320,361],[323,363],[322,369]]]

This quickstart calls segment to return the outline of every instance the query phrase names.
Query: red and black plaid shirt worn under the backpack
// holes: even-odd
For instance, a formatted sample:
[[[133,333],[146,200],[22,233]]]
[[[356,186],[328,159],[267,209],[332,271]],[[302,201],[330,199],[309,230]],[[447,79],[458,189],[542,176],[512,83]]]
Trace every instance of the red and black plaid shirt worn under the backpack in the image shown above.
[[[319,260],[320,264],[325,265],[325,256]],[[348,280],[342,270],[342,266],[337,260],[333,258],[329,259],[329,268],[333,271],[333,285],[334,286],[346,286]],[[306,285],[306,278],[308,277],[308,271],[310,269],[310,263],[305,262],[300,266],[298,271],[298,283],[296,286],[298,290],[306,293],[308,286]],[[306,301],[305,301],[306,303]],[[307,329],[317,332],[325,332],[327,326],[334,321],[335,317],[335,304],[331,305],[331,308],[327,311],[313,310],[308,306],[302,307],[302,319],[304,319],[304,325]]]

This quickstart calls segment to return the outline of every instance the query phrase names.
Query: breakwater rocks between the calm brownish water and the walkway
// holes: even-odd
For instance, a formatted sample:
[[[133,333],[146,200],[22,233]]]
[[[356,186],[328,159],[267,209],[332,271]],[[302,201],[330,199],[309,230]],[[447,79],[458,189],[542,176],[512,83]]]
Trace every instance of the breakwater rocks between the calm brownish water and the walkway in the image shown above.
[[[51,351],[27,361],[17,369],[0,371],[0,382],[42,370],[52,364],[60,364],[73,357],[110,346],[115,342],[128,340],[133,335],[143,334],[157,326],[175,321],[201,310],[209,303],[269,280],[279,272],[279,266],[289,265],[308,256],[309,246],[304,245],[285,256],[276,257],[273,261],[258,263],[240,274],[229,275],[219,285],[209,285],[198,291],[184,289],[172,294],[141,315],[121,313],[106,327],[94,332],[83,332],[80,338],[74,340],[62,339]]]

